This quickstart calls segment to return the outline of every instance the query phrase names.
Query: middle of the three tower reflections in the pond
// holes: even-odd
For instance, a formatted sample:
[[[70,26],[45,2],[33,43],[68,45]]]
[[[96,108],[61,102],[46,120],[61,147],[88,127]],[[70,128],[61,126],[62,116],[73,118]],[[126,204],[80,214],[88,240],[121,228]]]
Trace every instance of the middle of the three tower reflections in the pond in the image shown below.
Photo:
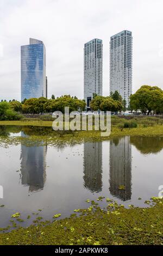
[[[102,142],[84,143],[84,187],[91,192],[102,191]]]

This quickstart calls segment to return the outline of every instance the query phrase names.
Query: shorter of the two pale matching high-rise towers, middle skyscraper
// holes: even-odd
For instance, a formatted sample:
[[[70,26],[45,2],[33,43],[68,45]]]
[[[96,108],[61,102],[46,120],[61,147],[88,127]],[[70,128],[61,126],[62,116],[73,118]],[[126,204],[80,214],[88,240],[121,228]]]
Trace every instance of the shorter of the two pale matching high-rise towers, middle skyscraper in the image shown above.
[[[103,41],[100,39],[84,45],[84,99],[88,109],[93,93],[103,94]]]

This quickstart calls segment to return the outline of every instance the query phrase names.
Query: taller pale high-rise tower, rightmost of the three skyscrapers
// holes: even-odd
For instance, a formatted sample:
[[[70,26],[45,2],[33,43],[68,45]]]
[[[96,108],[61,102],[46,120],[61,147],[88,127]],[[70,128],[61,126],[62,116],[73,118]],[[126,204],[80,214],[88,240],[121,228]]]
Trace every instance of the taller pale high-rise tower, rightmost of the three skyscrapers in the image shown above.
[[[133,36],[122,31],[110,38],[110,93],[116,90],[129,105],[133,78]]]

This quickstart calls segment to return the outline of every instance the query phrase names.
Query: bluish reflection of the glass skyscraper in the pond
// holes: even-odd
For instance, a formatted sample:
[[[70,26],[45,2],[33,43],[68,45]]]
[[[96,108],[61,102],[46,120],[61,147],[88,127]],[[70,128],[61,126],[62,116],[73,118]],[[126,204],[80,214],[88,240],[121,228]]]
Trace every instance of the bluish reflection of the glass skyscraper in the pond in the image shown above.
[[[22,132],[22,137],[26,137]],[[22,185],[29,186],[29,192],[43,189],[46,181],[47,146],[21,145],[21,175]]]

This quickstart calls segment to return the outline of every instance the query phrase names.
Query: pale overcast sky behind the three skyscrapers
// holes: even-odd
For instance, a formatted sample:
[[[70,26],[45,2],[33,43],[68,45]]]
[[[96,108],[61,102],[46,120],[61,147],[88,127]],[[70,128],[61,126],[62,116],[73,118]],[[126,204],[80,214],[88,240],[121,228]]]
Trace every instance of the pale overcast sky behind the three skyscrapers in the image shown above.
[[[109,95],[110,36],[133,32],[133,93],[163,89],[162,0],[0,0],[0,100],[20,100],[21,45],[46,46],[48,97],[83,99],[83,49],[103,40],[103,96]]]

